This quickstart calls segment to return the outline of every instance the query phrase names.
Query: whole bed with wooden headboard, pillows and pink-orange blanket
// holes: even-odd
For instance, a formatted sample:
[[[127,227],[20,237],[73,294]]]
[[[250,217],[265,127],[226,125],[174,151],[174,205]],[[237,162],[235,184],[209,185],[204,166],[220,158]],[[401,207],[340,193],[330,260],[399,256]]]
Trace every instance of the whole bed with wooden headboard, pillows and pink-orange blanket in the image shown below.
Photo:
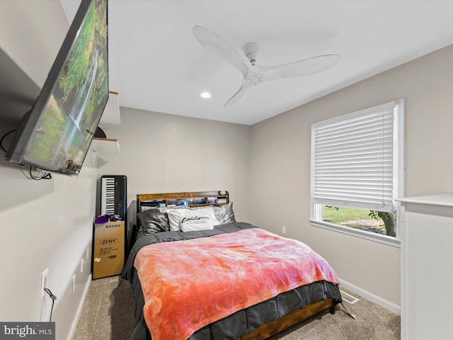
[[[236,222],[227,191],[139,194],[137,230],[131,340],[266,339],[342,301],[319,254]]]

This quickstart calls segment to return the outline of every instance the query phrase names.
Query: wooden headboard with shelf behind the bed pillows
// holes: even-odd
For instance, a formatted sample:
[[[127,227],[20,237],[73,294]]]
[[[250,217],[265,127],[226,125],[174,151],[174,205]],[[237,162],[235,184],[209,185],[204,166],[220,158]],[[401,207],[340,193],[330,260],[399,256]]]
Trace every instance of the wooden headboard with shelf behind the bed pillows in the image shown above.
[[[205,205],[224,205],[226,203],[229,203],[228,191],[141,193],[137,195],[137,212],[141,212],[144,207],[171,207],[180,205],[202,207]]]

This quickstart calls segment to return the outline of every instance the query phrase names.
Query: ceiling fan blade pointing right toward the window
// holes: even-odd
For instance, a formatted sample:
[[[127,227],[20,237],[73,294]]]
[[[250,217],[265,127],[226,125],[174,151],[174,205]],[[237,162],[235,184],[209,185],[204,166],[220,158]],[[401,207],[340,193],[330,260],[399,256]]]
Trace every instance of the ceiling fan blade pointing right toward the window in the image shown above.
[[[326,71],[340,60],[340,55],[319,55],[276,67],[261,66],[269,80],[302,77]]]

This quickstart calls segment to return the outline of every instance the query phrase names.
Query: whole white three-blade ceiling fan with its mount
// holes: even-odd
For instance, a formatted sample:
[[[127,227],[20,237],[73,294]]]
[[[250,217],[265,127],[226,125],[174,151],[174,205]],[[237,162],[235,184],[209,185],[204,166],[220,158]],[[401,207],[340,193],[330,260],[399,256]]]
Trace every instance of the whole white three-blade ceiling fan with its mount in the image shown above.
[[[193,34],[207,50],[221,57],[224,61],[229,62],[229,64],[232,64],[243,75],[241,87],[236,94],[229,98],[224,108],[234,106],[251,86],[275,79],[302,77],[323,72],[333,67],[340,59],[340,55],[319,55],[278,66],[257,65],[258,44],[255,42],[249,42],[242,48],[244,55],[250,62],[246,63],[234,47],[229,45],[228,42],[216,33],[207,30],[207,28],[195,26],[193,28]]]

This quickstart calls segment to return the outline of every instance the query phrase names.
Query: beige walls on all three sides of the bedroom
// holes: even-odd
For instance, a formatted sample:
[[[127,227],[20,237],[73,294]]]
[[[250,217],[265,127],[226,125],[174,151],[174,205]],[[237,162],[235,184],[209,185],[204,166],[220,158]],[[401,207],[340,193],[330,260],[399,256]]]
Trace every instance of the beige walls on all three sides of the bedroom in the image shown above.
[[[0,1],[0,28],[1,50],[42,86],[67,30],[59,1]],[[122,124],[105,127],[121,153],[98,154],[96,164],[88,154],[77,179],[29,181],[1,160],[0,320],[48,317],[39,281],[50,268],[57,339],[66,338],[89,276],[77,272],[103,174],[127,176],[130,205],[137,193],[226,189],[238,220],[277,233],[287,227],[340,278],[399,305],[398,248],[309,225],[310,125],[404,97],[406,194],[452,193],[452,57],[446,47],[251,127],[121,108]]]

